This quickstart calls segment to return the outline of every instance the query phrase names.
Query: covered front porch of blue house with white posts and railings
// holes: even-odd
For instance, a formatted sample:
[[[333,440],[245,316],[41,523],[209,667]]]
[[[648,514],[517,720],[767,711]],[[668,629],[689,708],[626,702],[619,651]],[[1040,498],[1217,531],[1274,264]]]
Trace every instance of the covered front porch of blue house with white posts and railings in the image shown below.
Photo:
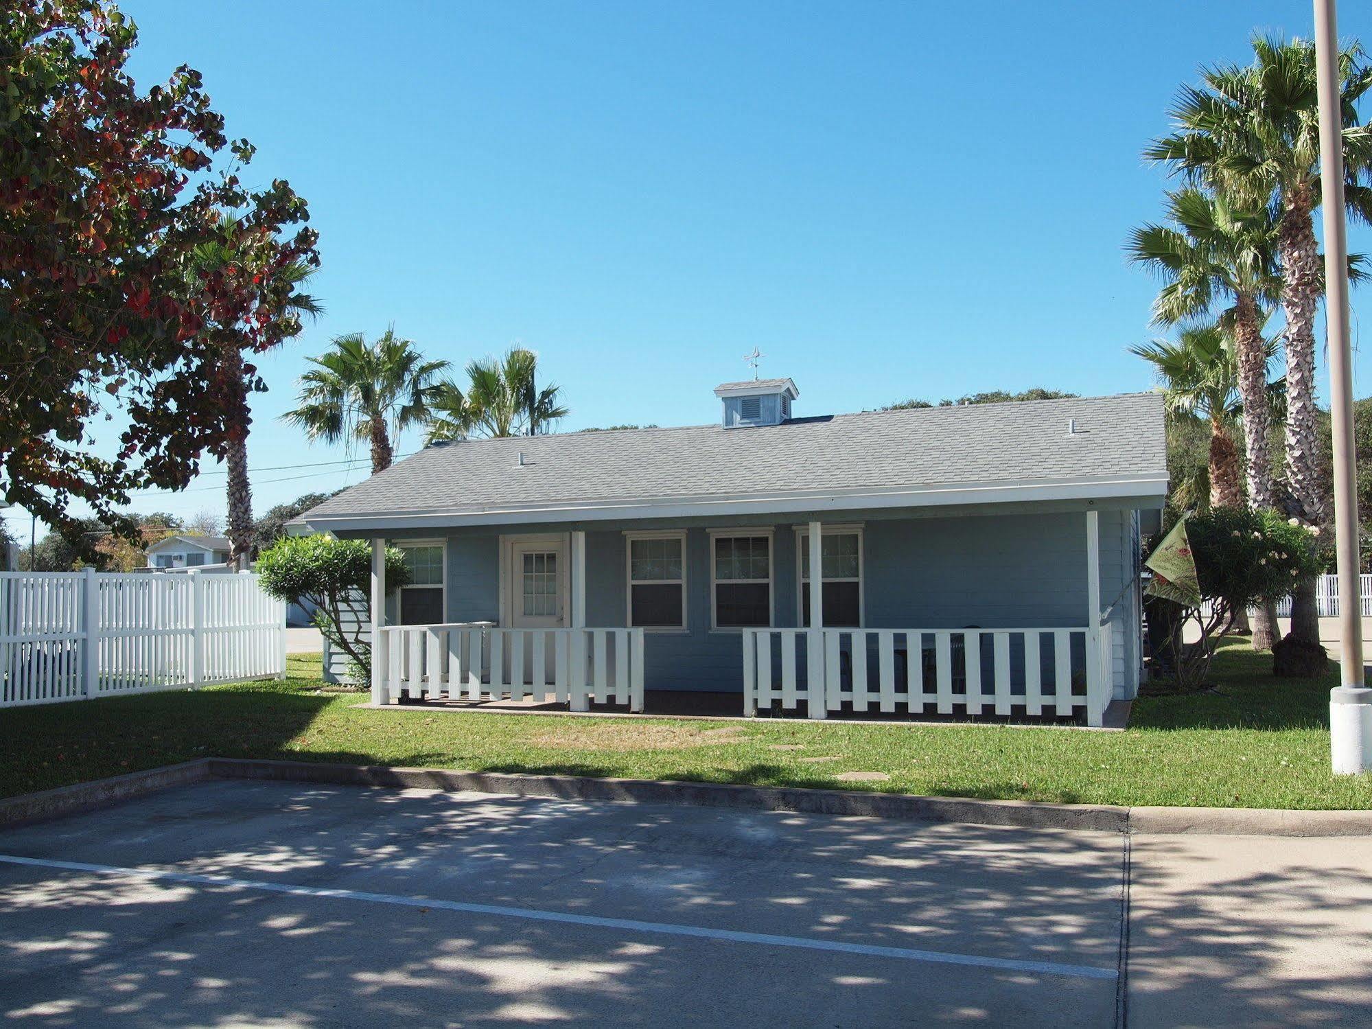
[[[442,542],[442,580],[412,587],[442,591],[428,611],[446,619],[423,622],[423,598],[388,594],[381,557],[388,542],[435,545],[373,538],[372,698],[1099,726],[1111,698],[1136,687],[1135,513],[1104,512],[1104,547],[1095,508],[999,517],[454,534]],[[1007,545],[991,542],[997,532]],[[949,589],[959,567],[960,597]],[[386,624],[387,612],[416,623]],[[903,617],[919,613],[933,617]],[[746,620],[760,624],[730,624]]]

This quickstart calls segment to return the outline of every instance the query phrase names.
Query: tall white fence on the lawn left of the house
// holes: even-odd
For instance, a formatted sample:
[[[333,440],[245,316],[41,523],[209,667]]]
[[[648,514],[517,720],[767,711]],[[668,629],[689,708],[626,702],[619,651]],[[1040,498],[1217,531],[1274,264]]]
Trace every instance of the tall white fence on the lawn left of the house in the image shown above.
[[[0,708],[284,674],[255,575],[0,572]]]

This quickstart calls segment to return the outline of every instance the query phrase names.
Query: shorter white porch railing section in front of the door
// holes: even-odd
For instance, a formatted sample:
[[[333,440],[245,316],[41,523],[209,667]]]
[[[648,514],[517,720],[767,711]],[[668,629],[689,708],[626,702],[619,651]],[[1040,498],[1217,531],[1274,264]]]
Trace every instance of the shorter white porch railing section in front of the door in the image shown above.
[[[498,628],[488,623],[381,628],[383,702],[594,700],[643,709],[642,628]]]

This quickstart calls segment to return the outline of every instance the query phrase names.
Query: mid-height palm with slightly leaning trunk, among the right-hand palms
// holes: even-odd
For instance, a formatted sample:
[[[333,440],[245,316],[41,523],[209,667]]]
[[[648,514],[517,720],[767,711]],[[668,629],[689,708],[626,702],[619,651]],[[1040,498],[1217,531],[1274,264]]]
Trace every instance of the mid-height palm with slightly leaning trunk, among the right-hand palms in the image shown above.
[[[1276,280],[1272,218],[1266,209],[1235,210],[1221,195],[1198,188],[1168,193],[1170,225],[1144,225],[1129,240],[1129,255],[1163,279],[1152,305],[1154,324],[1177,325],[1214,314],[1233,340],[1243,409],[1249,504],[1270,508],[1268,449],[1268,359],[1262,336]]]

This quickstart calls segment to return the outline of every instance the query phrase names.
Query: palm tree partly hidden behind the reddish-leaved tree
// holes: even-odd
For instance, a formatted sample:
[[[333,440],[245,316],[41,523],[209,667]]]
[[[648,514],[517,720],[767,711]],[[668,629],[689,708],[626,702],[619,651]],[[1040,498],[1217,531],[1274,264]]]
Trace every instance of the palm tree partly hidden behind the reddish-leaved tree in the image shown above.
[[[187,283],[193,288],[198,279],[239,272],[259,243],[261,233],[235,215],[221,213],[210,226],[210,237],[191,251],[191,259],[184,269]],[[283,338],[294,336],[299,331],[300,316],[313,317],[322,310],[313,296],[299,291],[313,274],[314,266],[302,261],[292,261],[270,270],[273,285],[285,289],[284,299],[277,302],[277,311],[272,317],[295,325],[295,331],[284,332]],[[265,314],[265,307],[259,307],[258,313]],[[254,550],[252,486],[248,482],[248,425],[252,418],[248,395],[263,387],[257,377],[257,369],[243,359],[243,347],[247,344],[244,327],[207,324],[206,328],[220,351],[215,361],[215,380],[222,403],[236,417],[224,450],[226,531],[232,542],[229,560],[244,565]]]

